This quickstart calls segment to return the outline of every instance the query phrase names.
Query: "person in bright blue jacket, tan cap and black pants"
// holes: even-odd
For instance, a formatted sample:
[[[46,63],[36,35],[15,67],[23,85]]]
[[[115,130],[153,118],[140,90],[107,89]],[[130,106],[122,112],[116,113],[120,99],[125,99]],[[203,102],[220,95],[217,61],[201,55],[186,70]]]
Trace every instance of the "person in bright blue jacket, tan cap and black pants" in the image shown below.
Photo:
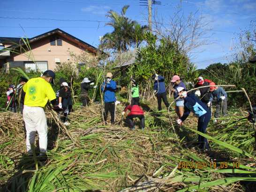
[[[108,112],[110,112],[111,123],[115,123],[115,91],[116,91],[116,82],[112,80],[112,73],[106,74],[106,79],[101,85],[101,91],[104,93],[104,121],[107,120]]]

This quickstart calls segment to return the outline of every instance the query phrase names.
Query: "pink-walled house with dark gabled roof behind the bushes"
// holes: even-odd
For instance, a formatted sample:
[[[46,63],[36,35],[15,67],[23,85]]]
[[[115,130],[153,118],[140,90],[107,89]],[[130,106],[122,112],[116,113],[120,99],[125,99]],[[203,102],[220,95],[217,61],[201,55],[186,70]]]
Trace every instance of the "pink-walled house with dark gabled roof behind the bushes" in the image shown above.
[[[30,48],[24,44],[24,40]],[[54,70],[60,62],[71,61],[70,52],[85,54],[88,58],[97,58],[98,54],[104,53],[60,29],[27,39],[0,37],[0,46],[3,47],[0,49],[0,68],[6,72],[13,67],[23,67],[27,71]]]

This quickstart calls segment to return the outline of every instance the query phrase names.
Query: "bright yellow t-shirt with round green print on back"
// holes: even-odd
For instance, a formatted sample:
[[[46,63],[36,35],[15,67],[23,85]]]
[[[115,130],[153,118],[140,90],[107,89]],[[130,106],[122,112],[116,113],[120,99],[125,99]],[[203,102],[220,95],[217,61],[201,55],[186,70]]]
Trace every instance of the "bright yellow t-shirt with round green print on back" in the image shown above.
[[[45,107],[48,100],[56,99],[51,84],[41,77],[32,78],[23,86],[26,93],[24,105],[30,107]]]

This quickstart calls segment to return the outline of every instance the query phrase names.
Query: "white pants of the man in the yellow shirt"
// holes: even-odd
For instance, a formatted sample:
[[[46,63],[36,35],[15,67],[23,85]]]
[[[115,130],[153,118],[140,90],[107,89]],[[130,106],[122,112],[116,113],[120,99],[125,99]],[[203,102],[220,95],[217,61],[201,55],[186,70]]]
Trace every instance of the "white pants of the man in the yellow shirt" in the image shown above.
[[[45,111],[41,107],[30,107],[24,105],[23,120],[25,122],[27,139],[27,152],[32,153],[31,145],[35,144],[36,132],[39,136],[40,153],[47,151],[47,121]]]

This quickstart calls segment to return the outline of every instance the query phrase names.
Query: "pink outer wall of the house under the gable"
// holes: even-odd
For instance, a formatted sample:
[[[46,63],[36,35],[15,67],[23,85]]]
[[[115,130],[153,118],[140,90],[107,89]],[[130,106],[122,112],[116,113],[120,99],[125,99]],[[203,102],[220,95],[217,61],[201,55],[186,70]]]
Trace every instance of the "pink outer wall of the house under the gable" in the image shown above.
[[[56,45],[50,45],[51,36],[45,37],[30,44],[35,61],[48,61],[48,69],[54,70],[55,66],[57,65],[55,63],[55,58],[60,59],[60,62],[71,61],[68,50],[75,53],[76,55],[84,52],[82,47],[74,44],[68,39],[56,35],[54,37],[58,37],[62,40],[62,46],[58,46],[57,41]],[[30,57],[30,59],[28,59],[28,56],[26,56],[29,54],[30,52],[15,55],[9,58],[7,61],[33,61],[33,57]],[[93,53],[89,55],[88,57],[95,57],[95,54]]]

